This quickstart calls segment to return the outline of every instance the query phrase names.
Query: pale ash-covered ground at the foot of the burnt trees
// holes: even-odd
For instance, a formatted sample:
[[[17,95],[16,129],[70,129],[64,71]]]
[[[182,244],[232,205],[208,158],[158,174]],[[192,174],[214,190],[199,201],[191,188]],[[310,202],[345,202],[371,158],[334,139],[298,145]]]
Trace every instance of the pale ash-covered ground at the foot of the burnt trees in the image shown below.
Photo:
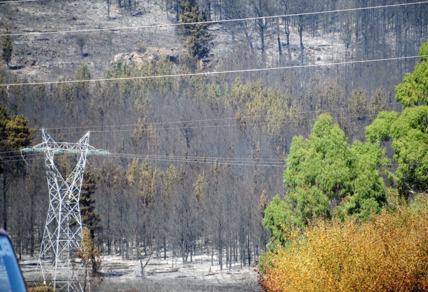
[[[181,258],[168,255],[166,259],[152,258],[144,268],[145,277],[141,277],[139,260],[122,260],[119,255],[102,256],[103,281],[92,285],[91,291],[259,291],[257,272],[254,268],[233,264],[229,271],[216,262],[211,266],[211,256],[202,254],[193,256],[193,262],[183,266]],[[143,259],[143,265],[147,258]],[[48,273],[49,259],[43,261]],[[23,256],[19,261],[28,287],[33,285],[37,268],[37,258]],[[76,262],[76,265],[79,263]],[[40,271],[38,272],[40,276]]]

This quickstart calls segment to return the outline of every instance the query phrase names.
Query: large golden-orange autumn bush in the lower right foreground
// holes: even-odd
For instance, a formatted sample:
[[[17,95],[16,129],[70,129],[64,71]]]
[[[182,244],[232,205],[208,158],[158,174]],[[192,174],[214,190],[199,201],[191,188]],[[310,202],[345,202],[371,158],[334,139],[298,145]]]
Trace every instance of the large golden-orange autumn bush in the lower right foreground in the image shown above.
[[[428,291],[428,203],[317,223],[262,259],[267,291]]]

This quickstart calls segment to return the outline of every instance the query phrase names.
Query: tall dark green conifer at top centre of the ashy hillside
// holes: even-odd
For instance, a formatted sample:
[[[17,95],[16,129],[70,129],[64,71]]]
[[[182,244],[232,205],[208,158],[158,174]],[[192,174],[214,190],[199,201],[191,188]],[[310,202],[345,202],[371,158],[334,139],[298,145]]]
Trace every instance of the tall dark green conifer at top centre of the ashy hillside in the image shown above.
[[[184,23],[206,21],[205,14],[199,11],[197,5],[192,6],[189,0],[181,2],[182,13],[181,20]],[[211,35],[207,32],[208,24],[186,24],[184,25],[185,34],[187,36],[184,41],[188,53],[192,57],[202,59],[207,56],[210,51]]]

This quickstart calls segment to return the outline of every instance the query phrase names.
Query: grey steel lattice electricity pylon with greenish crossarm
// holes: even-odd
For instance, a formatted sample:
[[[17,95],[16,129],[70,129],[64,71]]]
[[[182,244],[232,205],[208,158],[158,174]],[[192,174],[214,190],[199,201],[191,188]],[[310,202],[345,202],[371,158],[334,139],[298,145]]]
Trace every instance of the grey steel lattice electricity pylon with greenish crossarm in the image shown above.
[[[21,149],[21,152],[43,152],[45,154],[46,178],[49,188],[49,210],[43,232],[39,260],[36,268],[40,269],[43,281],[52,285],[55,291],[81,291],[84,277],[80,267],[74,268],[72,253],[80,246],[82,220],[80,218],[80,189],[83,171],[88,155],[108,155],[105,150],[98,150],[88,144],[89,132],[77,143],[55,142],[45,129],[42,129],[43,142],[34,147]],[[77,164],[70,175],[64,179],[56,168],[54,157],[59,154],[75,154]],[[52,256],[50,268],[44,267],[42,259],[49,253]]]

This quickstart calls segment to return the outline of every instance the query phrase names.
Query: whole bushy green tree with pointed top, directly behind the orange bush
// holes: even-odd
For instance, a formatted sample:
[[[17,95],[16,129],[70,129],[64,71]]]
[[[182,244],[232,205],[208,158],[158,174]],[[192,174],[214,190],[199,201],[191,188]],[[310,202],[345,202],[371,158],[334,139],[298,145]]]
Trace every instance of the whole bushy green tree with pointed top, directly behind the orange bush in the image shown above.
[[[284,184],[285,201],[268,206],[264,226],[272,232],[268,247],[284,244],[284,230],[303,229],[314,218],[367,220],[386,202],[378,168],[389,164],[377,144],[356,141],[352,146],[328,113],[315,122],[309,139],[293,137]],[[333,206],[338,205],[334,208]]]

